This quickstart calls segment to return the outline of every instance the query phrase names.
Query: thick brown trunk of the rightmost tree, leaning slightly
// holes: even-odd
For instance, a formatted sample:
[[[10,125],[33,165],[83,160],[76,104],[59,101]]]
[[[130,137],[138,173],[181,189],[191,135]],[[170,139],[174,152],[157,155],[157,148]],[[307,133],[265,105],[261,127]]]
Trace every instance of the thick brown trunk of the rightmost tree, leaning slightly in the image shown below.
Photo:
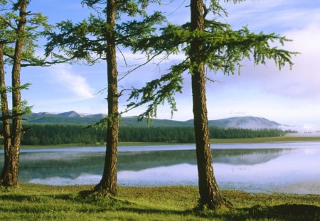
[[[191,31],[203,31],[203,1],[191,0]],[[220,194],[218,185],[213,175],[212,156],[210,149],[210,136],[208,129],[208,113],[206,106],[206,78],[202,60],[203,43],[193,41],[190,51],[193,68],[192,93],[193,93],[193,119],[196,136],[196,155],[198,164],[198,185],[200,204],[214,209],[226,205]]]

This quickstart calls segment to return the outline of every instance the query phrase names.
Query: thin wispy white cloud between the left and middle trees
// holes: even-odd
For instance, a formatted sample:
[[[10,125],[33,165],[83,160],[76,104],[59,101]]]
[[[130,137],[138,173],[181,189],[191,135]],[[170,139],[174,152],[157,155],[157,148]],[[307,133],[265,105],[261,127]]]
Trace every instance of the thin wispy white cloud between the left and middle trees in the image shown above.
[[[50,69],[50,77],[57,86],[72,92],[78,99],[91,98],[94,94],[85,77],[76,75],[68,65],[57,65]]]

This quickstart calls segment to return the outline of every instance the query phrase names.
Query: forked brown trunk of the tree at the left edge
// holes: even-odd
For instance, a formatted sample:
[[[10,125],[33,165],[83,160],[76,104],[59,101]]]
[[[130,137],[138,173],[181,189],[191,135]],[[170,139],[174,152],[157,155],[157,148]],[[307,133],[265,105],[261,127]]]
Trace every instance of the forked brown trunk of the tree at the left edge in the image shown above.
[[[4,134],[7,139],[5,141],[5,154],[4,154],[4,168],[1,173],[1,185],[16,186],[18,184],[18,158],[20,153],[21,141],[21,88],[20,88],[20,72],[21,72],[21,58],[23,50],[23,38],[26,27],[26,7],[28,0],[19,1],[19,16],[18,25],[16,28],[17,39],[14,51],[14,63],[12,65],[12,132],[9,129],[9,109],[7,104],[6,95],[1,91],[1,102],[6,102],[6,107],[1,107],[3,114]],[[2,71],[1,71],[2,72]],[[1,73],[2,75],[2,73]],[[3,79],[4,80],[4,79]],[[2,87],[2,79],[1,79]],[[8,110],[8,111],[7,111]],[[8,121],[8,122],[7,122]],[[10,136],[11,135],[11,136]],[[7,151],[6,151],[7,149]]]

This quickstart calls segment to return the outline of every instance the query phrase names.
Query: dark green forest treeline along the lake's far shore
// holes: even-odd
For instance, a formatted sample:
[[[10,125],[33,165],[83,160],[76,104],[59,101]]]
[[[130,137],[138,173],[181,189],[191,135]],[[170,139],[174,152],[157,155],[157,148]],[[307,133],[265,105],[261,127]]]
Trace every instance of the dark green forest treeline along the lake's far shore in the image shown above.
[[[23,145],[97,144],[104,143],[106,129],[86,128],[74,124],[25,124],[21,137]],[[279,129],[210,128],[210,138],[242,139],[283,136]],[[119,141],[194,143],[193,127],[120,126]],[[1,139],[1,143],[3,140]]]

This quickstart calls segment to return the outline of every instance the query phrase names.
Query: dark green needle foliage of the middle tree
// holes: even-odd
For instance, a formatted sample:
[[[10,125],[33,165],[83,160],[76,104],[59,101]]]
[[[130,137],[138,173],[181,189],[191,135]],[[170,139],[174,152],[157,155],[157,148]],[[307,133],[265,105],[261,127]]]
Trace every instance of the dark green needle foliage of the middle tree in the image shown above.
[[[46,33],[48,38],[46,55],[51,55],[53,50],[58,48],[60,54],[65,55],[65,59],[68,60],[82,60],[89,65],[95,64],[98,60],[106,60],[105,43],[108,33],[114,32],[114,41],[117,47],[131,45],[133,39],[149,36],[155,31],[153,26],[164,20],[164,16],[161,16],[159,12],[155,12],[151,16],[145,14],[144,9],[149,3],[159,3],[159,1],[137,1],[137,3],[123,1],[121,4],[119,3],[118,14],[140,15],[139,19],[142,21],[133,19],[132,21],[117,23],[115,30],[110,29],[110,24],[105,21],[105,16],[100,16],[100,14],[92,14],[79,23],[73,23],[70,20],[61,21],[56,26],[58,32],[48,31]],[[82,4],[94,9],[95,4],[102,4],[103,8],[105,1],[82,1]],[[97,11],[99,10],[97,9]]]

